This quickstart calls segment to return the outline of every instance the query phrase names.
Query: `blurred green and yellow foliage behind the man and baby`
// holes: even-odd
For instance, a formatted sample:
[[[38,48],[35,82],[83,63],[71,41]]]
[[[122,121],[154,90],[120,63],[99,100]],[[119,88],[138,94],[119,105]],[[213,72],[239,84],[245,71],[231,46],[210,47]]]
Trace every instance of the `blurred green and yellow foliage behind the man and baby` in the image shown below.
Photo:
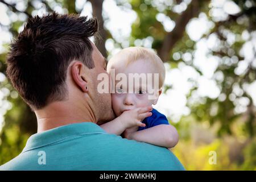
[[[10,5],[8,16],[15,13],[16,15],[30,16],[32,12],[38,10],[35,6],[36,2],[42,2],[48,12],[52,12],[53,5],[60,5],[63,7],[64,12],[77,13],[75,0],[53,0],[53,1],[27,1],[26,9],[24,13],[15,9],[15,5]],[[103,2],[103,1],[102,1]],[[176,13],[174,7],[179,5],[183,1],[156,1],[151,0],[130,0],[121,1],[116,0],[120,7],[123,3],[129,2],[132,9],[137,13],[137,19],[132,24],[130,35],[130,46],[135,45],[135,40],[145,39],[148,37],[153,38],[152,48],[156,49],[158,53],[161,51],[164,45],[164,40],[168,38],[171,32],[167,32],[164,26],[156,18],[159,13],[166,15],[174,22],[179,22],[179,18],[184,12]],[[196,1],[192,1],[195,3]],[[198,14],[194,11],[190,12],[184,18],[191,20],[193,17],[198,17],[200,13],[207,16],[207,19],[214,24],[210,28],[209,32],[205,33],[201,39],[208,39],[210,35],[217,35],[220,41],[220,46],[217,49],[210,49],[209,56],[217,56],[220,58],[220,63],[215,72],[220,72],[224,75],[223,80],[216,80],[217,85],[221,88],[222,96],[225,99],[220,98],[201,98],[201,102],[194,103],[193,105],[187,104],[191,109],[191,114],[183,116],[179,122],[174,123],[174,126],[179,131],[180,142],[174,147],[174,154],[181,160],[185,168],[188,170],[221,170],[221,169],[241,169],[241,170],[255,170],[256,169],[256,119],[255,119],[255,106],[253,100],[249,96],[243,85],[250,84],[256,80],[255,67],[251,66],[246,69],[245,73],[241,75],[235,74],[235,69],[238,67],[240,61],[245,59],[240,54],[242,46],[246,43],[241,39],[243,32],[247,31],[249,34],[256,29],[256,11],[255,2],[249,0],[237,1],[235,3],[240,7],[241,12],[235,15],[228,15],[225,20],[214,20],[210,14],[210,1],[199,0],[199,3],[195,4],[193,10],[198,10]],[[0,2],[1,3],[1,2]],[[250,6],[248,6],[248,3]],[[189,7],[189,5],[188,5]],[[194,13],[194,14],[193,14]],[[238,23],[239,22],[239,23]],[[15,20],[11,22],[9,26],[3,26],[1,28],[7,29],[14,37],[18,35],[19,28],[23,26],[24,21]],[[183,30],[187,24],[176,24],[179,30]],[[228,34],[225,34],[228,31]],[[108,38],[112,38],[109,30],[106,30]],[[174,46],[167,52],[168,60],[171,68],[179,68],[179,64],[185,64],[193,67],[199,75],[203,75],[201,70],[197,68],[193,61],[185,61],[183,59],[184,53],[191,53],[192,60],[195,58],[196,43],[192,40],[187,31],[177,31],[177,35],[172,36],[171,41],[174,41],[178,34],[181,34],[181,38],[178,39]],[[236,40],[233,44],[229,44],[228,35],[234,34]],[[251,37],[250,37],[251,38]],[[249,38],[249,39],[250,39]],[[115,40],[114,40],[115,41]],[[104,42],[102,42],[104,44]],[[121,47],[121,44],[115,42],[115,45]],[[5,45],[7,48],[8,46]],[[0,53],[0,72],[5,75],[6,71],[6,53]],[[179,53],[179,59],[174,59],[174,54]],[[255,54],[256,55],[256,54]],[[237,61],[234,61],[237,60]],[[10,159],[18,155],[24,145],[27,138],[36,133],[36,117],[32,113],[30,108],[24,103],[24,101],[18,96],[13,86],[7,80],[0,82],[0,89],[9,90],[2,101],[9,102],[12,107],[7,110],[5,117],[5,125],[0,131],[0,164],[3,164]],[[249,105],[247,110],[243,113],[236,113],[235,105],[229,97],[234,94],[234,86],[239,86],[243,93],[236,98],[246,97],[249,99]],[[168,89],[172,89],[172,85],[167,85],[164,92]],[[192,93],[197,90],[197,84],[191,89],[191,92],[187,94],[187,98],[192,97]],[[212,110],[215,108],[213,114]],[[216,109],[217,108],[217,109]],[[198,129],[195,126],[206,128],[205,140],[198,139],[198,135],[193,135]],[[213,134],[210,135],[210,132]],[[198,133],[198,132],[197,132]],[[200,133],[201,134],[201,133]],[[210,137],[212,136],[212,137]],[[227,139],[228,138],[228,139]],[[231,138],[231,139],[230,139]],[[234,142],[235,140],[235,142]],[[239,142],[240,141],[240,142]],[[242,141],[242,142],[241,142]],[[232,144],[234,145],[232,146]],[[234,149],[237,152],[234,152]],[[209,164],[209,152],[216,151],[217,164]]]

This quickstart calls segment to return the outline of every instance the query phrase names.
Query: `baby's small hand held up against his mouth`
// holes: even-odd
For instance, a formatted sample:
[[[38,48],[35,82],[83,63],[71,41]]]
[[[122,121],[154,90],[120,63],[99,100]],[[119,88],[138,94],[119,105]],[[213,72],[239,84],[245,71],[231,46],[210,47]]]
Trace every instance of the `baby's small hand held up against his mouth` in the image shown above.
[[[139,107],[136,109],[131,109],[124,111],[121,115],[119,115],[120,121],[123,123],[123,126],[128,129],[133,126],[146,126],[141,121],[146,118],[150,117],[152,113],[150,112],[152,110],[152,106],[148,107]]]

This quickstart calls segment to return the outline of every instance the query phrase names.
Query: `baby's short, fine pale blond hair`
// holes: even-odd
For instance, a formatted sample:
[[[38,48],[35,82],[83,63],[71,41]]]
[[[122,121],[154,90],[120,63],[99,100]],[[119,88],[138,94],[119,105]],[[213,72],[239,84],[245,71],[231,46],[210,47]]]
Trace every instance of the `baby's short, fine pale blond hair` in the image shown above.
[[[116,64],[124,63],[125,67],[127,67],[127,65],[138,60],[150,61],[154,65],[156,72],[159,73],[159,88],[161,88],[164,84],[166,69],[160,57],[149,48],[128,47],[122,49],[109,60],[107,71],[110,73],[110,69],[117,68]]]

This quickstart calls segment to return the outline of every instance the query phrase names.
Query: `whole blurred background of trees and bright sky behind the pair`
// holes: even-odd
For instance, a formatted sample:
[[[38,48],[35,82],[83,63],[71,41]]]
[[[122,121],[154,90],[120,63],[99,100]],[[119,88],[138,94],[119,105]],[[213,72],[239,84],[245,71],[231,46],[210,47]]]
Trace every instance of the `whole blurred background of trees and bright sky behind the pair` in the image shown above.
[[[37,127],[6,78],[9,44],[28,17],[52,11],[96,16],[108,59],[129,46],[159,54],[167,73],[155,108],[179,131],[171,150],[187,170],[256,170],[253,0],[0,0],[0,165]]]

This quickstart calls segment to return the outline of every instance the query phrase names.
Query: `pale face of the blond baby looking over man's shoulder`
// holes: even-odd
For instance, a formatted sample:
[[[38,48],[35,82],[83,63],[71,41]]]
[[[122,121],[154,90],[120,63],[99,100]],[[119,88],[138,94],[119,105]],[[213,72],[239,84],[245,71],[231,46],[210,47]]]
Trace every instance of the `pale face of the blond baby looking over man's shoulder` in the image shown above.
[[[152,85],[154,86],[154,76],[152,76],[152,84],[148,84],[149,79],[147,78],[147,73],[151,73],[151,75],[156,73],[154,66],[150,65],[147,61],[138,60],[134,63],[130,63],[127,67],[124,65],[117,65],[115,68],[115,76],[117,76],[118,73],[125,74],[127,80],[126,84],[120,84],[119,80],[115,81],[115,93],[112,94],[112,106],[117,116],[121,115],[125,110],[155,104],[155,100],[148,99],[148,90],[152,88]],[[146,77],[146,82],[141,79],[141,81],[136,84],[136,76],[131,77],[130,74],[129,78],[129,73],[133,76],[137,73],[137,78],[142,74]]]

